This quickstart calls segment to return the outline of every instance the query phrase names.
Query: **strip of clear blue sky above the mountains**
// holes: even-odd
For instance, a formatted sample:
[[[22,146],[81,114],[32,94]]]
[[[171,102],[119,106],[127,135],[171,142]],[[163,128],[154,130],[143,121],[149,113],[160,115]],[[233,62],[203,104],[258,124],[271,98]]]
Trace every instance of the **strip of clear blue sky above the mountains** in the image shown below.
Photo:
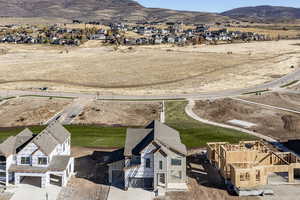
[[[232,8],[256,5],[291,6],[300,8],[300,0],[136,0],[146,7],[223,12]]]

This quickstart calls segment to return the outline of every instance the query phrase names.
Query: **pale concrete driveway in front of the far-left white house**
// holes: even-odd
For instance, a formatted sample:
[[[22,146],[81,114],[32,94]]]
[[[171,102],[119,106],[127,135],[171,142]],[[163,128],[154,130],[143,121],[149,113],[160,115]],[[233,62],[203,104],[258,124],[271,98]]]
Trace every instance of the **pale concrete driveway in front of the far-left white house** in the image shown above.
[[[61,187],[55,185],[49,185],[44,189],[29,184],[20,184],[8,189],[7,192],[13,193],[10,200],[56,200],[60,190]],[[47,193],[48,199],[46,198]]]

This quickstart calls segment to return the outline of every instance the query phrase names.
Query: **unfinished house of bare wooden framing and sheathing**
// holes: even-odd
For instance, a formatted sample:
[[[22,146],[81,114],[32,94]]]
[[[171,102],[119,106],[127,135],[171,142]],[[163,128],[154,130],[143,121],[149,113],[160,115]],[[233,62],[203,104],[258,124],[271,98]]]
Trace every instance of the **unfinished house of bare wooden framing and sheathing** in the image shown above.
[[[207,156],[221,176],[237,189],[251,189],[268,184],[274,173],[285,173],[294,182],[300,159],[291,152],[274,152],[261,141],[239,144],[208,143]]]

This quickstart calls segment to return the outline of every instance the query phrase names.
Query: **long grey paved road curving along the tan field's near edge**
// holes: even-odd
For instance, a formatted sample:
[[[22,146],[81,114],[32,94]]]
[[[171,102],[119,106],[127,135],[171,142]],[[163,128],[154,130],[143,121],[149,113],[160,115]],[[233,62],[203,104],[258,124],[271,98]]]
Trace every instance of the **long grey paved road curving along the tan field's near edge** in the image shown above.
[[[52,96],[52,97],[71,97],[71,98],[90,98],[103,100],[164,100],[164,99],[214,99],[224,97],[235,97],[248,92],[255,92],[266,89],[279,90],[280,86],[288,84],[292,81],[300,80],[300,69],[276,79],[274,81],[257,85],[246,89],[224,90],[217,92],[197,94],[182,94],[182,95],[151,95],[151,96],[137,96],[137,95],[97,95],[93,93],[71,93],[71,92],[47,92],[47,91],[22,91],[22,90],[0,90],[0,97],[15,97],[24,95],[38,95],[38,96]]]

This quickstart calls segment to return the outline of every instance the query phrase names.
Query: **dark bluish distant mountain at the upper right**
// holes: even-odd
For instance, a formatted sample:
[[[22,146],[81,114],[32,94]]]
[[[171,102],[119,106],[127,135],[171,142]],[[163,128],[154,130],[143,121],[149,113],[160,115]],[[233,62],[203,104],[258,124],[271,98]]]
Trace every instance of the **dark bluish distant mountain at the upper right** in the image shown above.
[[[280,6],[243,7],[223,12],[221,15],[254,22],[287,22],[300,19],[300,8]]]

